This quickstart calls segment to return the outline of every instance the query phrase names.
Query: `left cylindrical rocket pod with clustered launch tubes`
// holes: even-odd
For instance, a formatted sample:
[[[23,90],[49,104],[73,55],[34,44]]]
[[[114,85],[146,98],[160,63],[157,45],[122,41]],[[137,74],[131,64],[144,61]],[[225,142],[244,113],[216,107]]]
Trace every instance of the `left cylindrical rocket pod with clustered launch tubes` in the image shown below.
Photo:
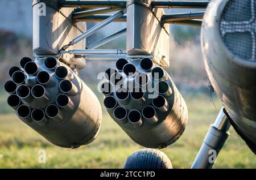
[[[26,125],[64,148],[97,138],[101,105],[76,72],[56,57],[24,57],[20,66],[10,69],[12,80],[4,87],[10,94],[7,103]]]

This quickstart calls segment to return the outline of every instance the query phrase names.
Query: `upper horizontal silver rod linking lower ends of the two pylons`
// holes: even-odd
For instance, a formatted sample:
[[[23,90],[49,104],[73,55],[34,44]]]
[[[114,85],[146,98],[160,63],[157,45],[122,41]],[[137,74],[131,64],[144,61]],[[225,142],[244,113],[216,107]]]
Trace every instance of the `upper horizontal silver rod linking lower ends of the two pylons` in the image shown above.
[[[126,54],[126,50],[120,49],[81,49],[81,50],[69,50],[68,52],[61,52],[75,55],[98,55],[98,54]]]

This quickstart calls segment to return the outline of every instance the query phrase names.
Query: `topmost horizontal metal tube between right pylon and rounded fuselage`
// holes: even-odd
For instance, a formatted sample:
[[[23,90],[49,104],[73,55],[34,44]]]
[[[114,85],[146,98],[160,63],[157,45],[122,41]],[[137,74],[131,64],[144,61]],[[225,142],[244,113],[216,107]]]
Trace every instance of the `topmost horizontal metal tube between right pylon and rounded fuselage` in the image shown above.
[[[152,1],[153,8],[207,8],[210,1]]]

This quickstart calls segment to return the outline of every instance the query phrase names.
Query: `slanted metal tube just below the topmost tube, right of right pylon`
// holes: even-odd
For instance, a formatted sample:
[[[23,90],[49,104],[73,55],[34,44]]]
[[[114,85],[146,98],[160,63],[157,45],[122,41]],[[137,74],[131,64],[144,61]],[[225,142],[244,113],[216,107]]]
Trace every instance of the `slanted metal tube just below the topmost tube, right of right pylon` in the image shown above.
[[[204,16],[204,11],[177,13],[177,14],[164,14],[161,20],[163,23],[170,23],[170,22],[176,22],[180,20],[202,19],[203,16]]]

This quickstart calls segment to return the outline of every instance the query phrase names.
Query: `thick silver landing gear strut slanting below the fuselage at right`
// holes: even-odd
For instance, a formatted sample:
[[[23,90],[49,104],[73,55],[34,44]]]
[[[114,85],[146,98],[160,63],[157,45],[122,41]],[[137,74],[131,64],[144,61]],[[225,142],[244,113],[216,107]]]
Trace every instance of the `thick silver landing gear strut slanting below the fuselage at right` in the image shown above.
[[[199,153],[197,153],[195,161],[191,166],[192,169],[212,168],[218,153],[229,136],[229,127],[229,117],[226,115],[225,109],[221,108],[218,117],[214,124],[210,126],[204,138]]]

